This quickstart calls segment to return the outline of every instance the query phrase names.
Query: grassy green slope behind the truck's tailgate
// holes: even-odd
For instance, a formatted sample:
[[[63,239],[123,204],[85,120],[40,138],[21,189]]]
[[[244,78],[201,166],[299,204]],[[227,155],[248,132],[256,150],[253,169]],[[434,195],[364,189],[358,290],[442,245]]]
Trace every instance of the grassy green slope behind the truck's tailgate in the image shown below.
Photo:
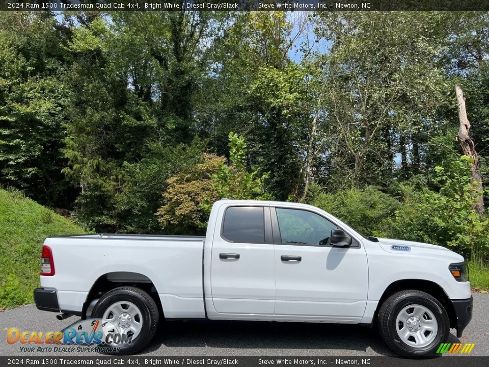
[[[46,237],[85,232],[21,192],[0,189],[0,308],[33,301]]]

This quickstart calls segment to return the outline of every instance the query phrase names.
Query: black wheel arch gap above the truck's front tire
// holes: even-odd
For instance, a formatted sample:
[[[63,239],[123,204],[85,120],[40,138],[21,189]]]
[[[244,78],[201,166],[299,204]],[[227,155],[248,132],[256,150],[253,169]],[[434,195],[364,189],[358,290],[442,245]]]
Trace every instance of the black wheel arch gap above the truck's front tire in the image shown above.
[[[372,323],[375,322],[375,320],[377,319],[379,308],[381,308],[382,304],[386,301],[387,298],[389,298],[396,292],[406,290],[417,290],[426,292],[436,298],[443,305],[448,313],[450,327],[457,327],[457,317],[455,314],[455,309],[453,308],[453,304],[452,302],[450,302],[450,298],[439,284],[426,279],[401,279],[389,284],[384,291],[381,299],[378,301]]]

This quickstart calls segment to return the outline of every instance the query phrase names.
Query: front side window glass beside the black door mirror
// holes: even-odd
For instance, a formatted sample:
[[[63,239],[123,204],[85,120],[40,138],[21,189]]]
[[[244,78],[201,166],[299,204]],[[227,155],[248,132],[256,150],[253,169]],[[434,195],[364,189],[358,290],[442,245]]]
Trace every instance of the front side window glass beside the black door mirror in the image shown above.
[[[318,214],[301,209],[276,208],[283,244],[327,245],[338,227]]]

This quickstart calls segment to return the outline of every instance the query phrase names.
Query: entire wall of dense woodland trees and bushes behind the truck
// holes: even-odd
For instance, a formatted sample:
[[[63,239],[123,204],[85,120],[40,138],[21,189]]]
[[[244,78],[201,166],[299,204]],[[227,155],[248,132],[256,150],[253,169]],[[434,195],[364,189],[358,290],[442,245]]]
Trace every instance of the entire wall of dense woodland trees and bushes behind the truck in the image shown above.
[[[486,13],[3,12],[0,182],[97,231],[275,198],[487,258],[453,90],[489,187],[488,81]]]

